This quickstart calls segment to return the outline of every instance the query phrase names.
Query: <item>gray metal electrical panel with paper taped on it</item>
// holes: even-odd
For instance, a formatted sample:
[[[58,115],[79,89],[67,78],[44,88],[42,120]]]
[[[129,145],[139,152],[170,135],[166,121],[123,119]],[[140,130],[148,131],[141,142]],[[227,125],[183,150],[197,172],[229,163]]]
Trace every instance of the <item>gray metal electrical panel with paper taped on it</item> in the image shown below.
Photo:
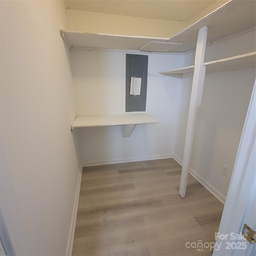
[[[140,95],[130,94],[131,78],[141,78]],[[146,111],[148,56],[126,54],[126,112]]]

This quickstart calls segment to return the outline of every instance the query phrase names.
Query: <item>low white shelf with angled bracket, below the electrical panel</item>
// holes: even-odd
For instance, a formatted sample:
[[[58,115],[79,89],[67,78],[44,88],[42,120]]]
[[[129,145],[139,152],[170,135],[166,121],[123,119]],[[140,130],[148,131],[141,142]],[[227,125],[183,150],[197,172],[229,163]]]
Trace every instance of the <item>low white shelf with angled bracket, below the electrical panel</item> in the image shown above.
[[[146,113],[132,113],[103,116],[77,116],[71,130],[79,127],[126,125],[123,138],[130,137],[136,124],[153,124],[159,121]]]

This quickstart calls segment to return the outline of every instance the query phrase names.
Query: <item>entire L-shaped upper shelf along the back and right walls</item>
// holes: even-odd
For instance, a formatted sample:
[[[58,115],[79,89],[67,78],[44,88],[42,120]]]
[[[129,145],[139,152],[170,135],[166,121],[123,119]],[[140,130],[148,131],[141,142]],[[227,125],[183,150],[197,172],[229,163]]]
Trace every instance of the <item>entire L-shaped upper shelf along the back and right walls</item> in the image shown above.
[[[227,2],[214,12],[169,38],[122,36],[60,30],[69,48],[108,48],[143,52],[186,52],[196,48],[198,30],[208,26],[207,43],[226,36],[237,36],[255,29],[256,1]],[[248,29],[248,30],[246,30]],[[245,30],[242,32],[242,30]]]

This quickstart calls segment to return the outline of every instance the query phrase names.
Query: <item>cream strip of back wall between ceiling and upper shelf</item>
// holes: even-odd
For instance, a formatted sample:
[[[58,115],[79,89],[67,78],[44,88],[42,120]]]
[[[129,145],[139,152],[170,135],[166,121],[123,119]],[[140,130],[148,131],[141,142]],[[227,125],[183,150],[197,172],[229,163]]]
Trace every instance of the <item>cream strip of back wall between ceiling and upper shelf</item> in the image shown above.
[[[66,10],[68,30],[131,36],[171,37],[187,27],[186,22],[127,15]]]

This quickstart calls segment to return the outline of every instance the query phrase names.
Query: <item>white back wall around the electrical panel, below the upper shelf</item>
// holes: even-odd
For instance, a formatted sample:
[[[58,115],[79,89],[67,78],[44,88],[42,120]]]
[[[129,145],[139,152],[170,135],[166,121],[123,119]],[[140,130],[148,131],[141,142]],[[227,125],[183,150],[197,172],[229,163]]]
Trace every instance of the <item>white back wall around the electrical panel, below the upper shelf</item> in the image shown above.
[[[176,68],[183,57],[149,54],[148,73]],[[76,114],[125,113],[125,52],[72,50]],[[180,97],[179,78],[148,76],[146,112],[158,124],[137,125],[130,138],[124,126],[79,129],[82,163],[86,165],[167,158],[174,152]]]

